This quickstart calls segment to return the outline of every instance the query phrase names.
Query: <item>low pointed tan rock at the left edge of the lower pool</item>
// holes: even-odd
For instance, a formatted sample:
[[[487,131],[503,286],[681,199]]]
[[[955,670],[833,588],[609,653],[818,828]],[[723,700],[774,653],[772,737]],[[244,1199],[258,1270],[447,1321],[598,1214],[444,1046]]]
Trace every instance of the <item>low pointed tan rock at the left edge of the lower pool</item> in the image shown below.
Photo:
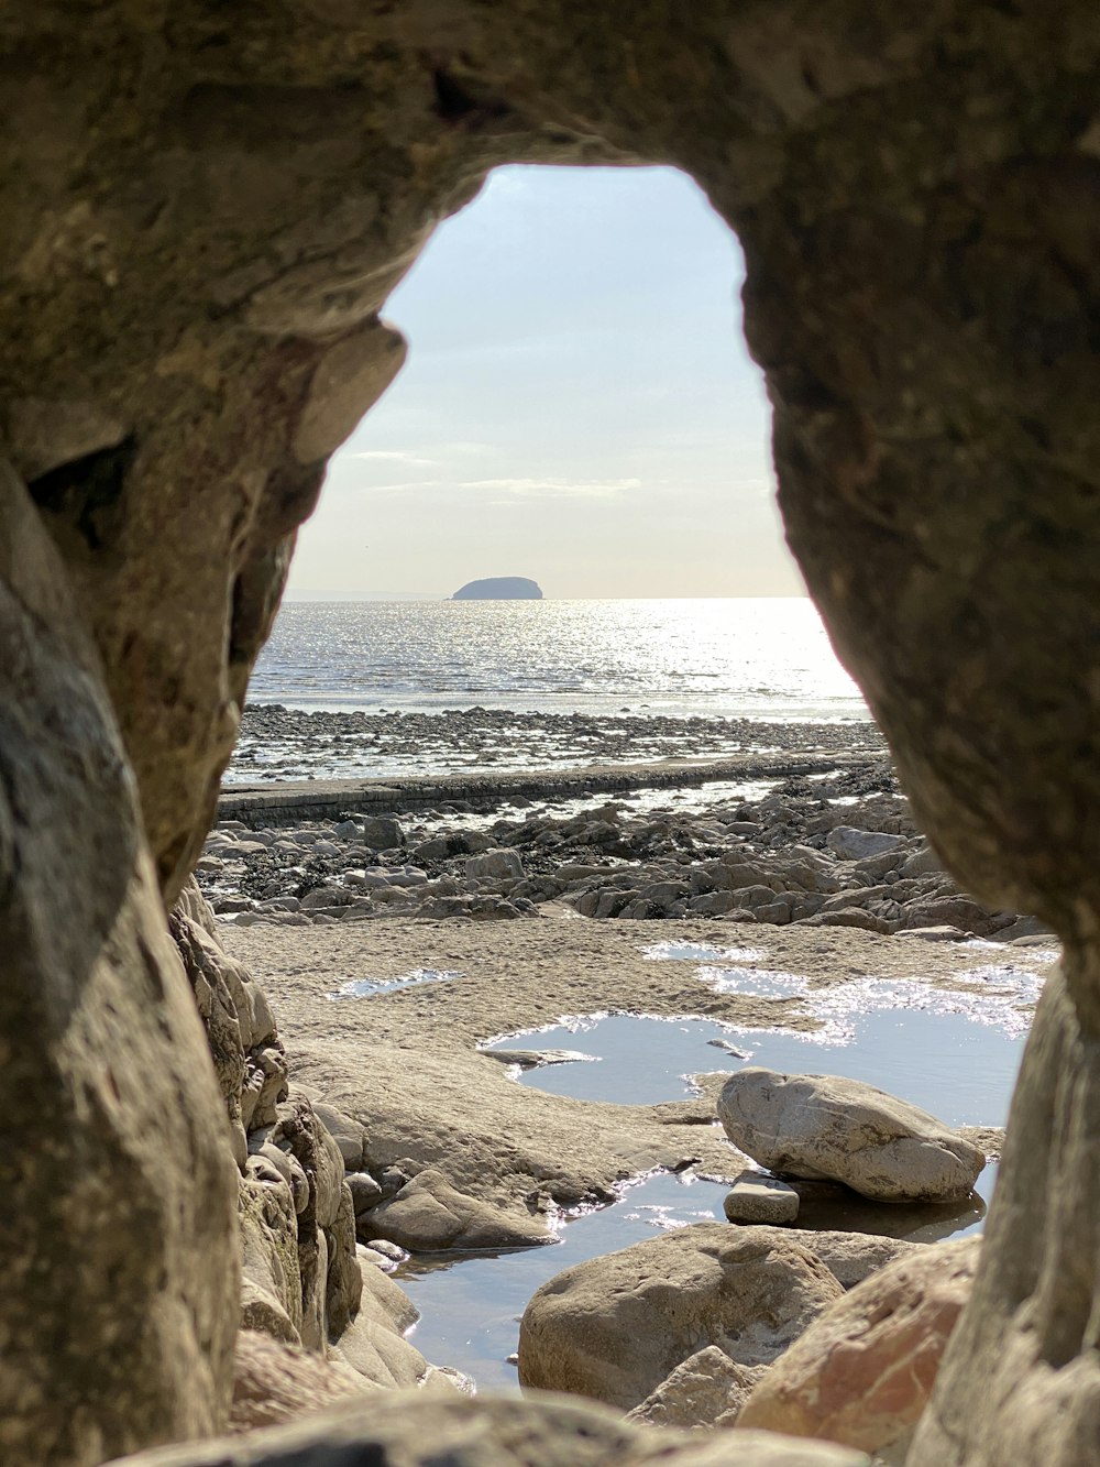
[[[550,1241],[540,1221],[532,1218],[524,1226],[515,1212],[456,1191],[434,1168],[418,1172],[392,1201],[374,1207],[365,1228],[371,1238],[427,1251],[518,1248]]]

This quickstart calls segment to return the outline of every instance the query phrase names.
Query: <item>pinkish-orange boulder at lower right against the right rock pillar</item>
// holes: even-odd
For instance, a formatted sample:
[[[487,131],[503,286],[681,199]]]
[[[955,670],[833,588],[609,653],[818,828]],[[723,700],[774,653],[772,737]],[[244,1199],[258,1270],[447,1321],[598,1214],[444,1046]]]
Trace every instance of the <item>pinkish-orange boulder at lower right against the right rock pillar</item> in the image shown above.
[[[928,1402],[980,1247],[934,1244],[858,1284],[767,1372],[738,1424],[896,1458]]]

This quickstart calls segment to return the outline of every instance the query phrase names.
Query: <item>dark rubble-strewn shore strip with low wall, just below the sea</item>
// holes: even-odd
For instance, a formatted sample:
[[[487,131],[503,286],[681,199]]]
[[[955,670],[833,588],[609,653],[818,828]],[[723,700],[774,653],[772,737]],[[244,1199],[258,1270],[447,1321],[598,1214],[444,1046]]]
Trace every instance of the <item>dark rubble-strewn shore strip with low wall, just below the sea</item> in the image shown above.
[[[248,783],[261,757],[293,783]],[[871,723],[252,707],[220,814],[197,874],[239,926],[576,914],[1043,933],[959,890]]]

